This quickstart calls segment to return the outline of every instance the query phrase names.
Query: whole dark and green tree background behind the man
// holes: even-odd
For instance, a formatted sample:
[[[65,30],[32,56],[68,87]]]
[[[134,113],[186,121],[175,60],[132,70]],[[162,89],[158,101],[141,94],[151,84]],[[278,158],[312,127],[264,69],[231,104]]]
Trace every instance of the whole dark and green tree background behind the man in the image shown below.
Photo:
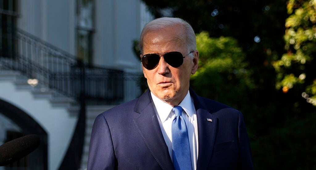
[[[316,169],[316,0],[143,2],[192,25],[191,87],[244,114],[255,169]]]

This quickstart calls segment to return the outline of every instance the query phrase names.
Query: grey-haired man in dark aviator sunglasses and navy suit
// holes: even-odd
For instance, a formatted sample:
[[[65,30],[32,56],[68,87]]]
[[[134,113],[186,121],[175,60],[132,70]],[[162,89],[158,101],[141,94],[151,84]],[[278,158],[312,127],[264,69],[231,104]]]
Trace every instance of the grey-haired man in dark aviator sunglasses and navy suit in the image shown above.
[[[153,20],[139,45],[149,89],[97,116],[88,170],[253,169],[242,114],[189,88],[199,59],[191,25]]]

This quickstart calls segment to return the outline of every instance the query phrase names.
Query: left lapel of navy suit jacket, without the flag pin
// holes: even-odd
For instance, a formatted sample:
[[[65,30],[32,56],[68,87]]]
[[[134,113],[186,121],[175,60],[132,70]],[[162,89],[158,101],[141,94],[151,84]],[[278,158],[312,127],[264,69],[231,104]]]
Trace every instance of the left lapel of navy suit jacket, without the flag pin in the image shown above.
[[[173,169],[149,90],[138,99],[134,111],[140,113],[133,120],[134,124],[155,160],[162,169]]]

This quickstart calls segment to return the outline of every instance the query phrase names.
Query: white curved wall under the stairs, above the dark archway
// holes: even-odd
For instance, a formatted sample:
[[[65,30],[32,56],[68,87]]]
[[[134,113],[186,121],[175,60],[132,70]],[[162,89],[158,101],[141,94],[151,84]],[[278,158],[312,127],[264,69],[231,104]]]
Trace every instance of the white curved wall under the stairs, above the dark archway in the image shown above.
[[[48,99],[34,98],[30,90],[16,89],[13,82],[1,81],[0,87],[2,100],[23,110],[46,131],[48,169],[58,169],[75,130],[77,116],[70,116],[65,108],[53,107]]]

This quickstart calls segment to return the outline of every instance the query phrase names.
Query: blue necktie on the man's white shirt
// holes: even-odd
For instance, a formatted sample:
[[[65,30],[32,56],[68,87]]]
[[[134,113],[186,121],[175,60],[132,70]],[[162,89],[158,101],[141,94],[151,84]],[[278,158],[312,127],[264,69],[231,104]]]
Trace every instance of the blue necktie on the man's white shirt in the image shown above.
[[[176,170],[192,170],[188,129],[181,116],[182,107],[175,106],[172,110],[175,114],[171,127],[173,166]]]

